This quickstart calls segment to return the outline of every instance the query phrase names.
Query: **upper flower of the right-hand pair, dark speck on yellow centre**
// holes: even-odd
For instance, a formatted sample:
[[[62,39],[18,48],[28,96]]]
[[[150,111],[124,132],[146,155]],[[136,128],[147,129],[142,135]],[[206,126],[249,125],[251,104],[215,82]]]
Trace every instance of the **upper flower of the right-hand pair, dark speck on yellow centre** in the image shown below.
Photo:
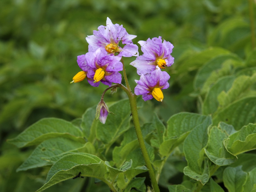
[[[156,69],[156,66],[165,69],[166,66],[169,67],[173,64],[174,58],[170,55],[173,45],[165,40],[162,42],[161,36],[154,37],[152,40],[148,38],[147,41],[139,41],[138,43],[141,45],[143,54],[130,63],[137,68],[138,75],[151,73]]]

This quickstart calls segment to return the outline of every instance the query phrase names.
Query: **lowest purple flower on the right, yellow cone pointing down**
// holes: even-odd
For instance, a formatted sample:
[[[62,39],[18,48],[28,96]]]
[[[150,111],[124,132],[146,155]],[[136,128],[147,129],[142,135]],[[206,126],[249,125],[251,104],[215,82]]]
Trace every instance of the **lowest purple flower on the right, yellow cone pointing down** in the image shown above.
[[[170,76],[168,73],[161,71],[157,67],[152,73],[147,75],[142,74],[140,80],[135,80],[137,85],[134,88],[134,93],[136,95],[142,95],[144,101],[150,100],[153,97],[158,101],[162,101],[164,95],[161,90],[169,87],[169,83],[167,82],[169,79]]]

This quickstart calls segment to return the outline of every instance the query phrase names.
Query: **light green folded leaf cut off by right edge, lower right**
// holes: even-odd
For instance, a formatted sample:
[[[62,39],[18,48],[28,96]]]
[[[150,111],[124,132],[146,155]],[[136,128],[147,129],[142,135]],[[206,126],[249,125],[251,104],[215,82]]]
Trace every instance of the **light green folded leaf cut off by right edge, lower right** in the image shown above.
[[[256,124],[248,124],[230,135],[227,147],[236,155],[256,149]]]

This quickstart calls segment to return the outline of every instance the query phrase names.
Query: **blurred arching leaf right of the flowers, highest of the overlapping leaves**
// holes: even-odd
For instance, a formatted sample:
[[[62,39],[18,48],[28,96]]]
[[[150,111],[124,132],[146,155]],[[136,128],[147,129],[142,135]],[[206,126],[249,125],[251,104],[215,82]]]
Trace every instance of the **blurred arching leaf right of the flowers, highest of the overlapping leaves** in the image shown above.
[[[227,54],[214,57],[212,58],[212,60],[205,63],[204,66],[202,66],[202,68],[198,70],[195,76],[194,88],[202,89],[205,81],[211,76],[212,72],[221,68],[223,62],[228,59],[239,60],[239,58],[236,55]]]

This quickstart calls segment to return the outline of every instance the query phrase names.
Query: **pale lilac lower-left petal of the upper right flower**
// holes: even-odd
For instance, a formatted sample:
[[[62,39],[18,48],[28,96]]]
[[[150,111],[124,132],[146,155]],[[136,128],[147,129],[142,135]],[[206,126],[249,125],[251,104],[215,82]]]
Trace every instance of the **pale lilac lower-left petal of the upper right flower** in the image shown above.
[[[156,69],[155,61],[149,61],[148,58],[145,58],[142,55],[132,61],[130,65],[137,68],[138,75],[151,73]]]

